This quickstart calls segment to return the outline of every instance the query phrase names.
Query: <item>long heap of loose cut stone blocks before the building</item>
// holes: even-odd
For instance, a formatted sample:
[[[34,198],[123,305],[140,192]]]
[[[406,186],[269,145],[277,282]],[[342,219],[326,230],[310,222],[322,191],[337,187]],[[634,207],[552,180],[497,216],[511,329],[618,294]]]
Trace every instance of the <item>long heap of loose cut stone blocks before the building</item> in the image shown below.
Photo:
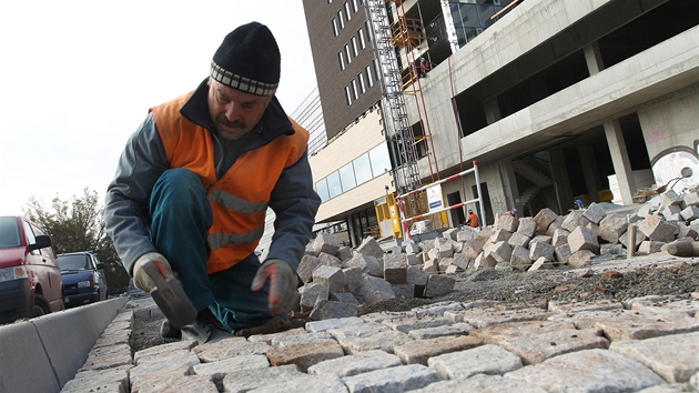
[[[394,298],[437,298],[454,290],[453,274],[469,270],[537,271],[584,268],[596,258],[662,252],[673,241],[697,241],[699,184],[678,194],[668,190],[632,214],[615,214],[591,203],[565,215],[548,208],[535,216],[500,214],[493,225],[460,226],[419,243],[384,250],[367,236],[356,249],[330,233],[306,246],[297,269],[301,311],[311,320],[356,316],[359,306]],[[617,206],[617,205],[612,205]],[[635,235],[629,236],[634,225]]]

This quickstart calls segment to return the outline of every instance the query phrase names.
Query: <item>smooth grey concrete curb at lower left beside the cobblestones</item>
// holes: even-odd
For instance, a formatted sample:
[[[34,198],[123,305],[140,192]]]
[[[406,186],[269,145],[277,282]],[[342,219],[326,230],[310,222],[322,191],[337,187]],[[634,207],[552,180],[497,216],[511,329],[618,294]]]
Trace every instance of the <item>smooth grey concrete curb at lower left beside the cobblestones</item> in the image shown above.
[[[129,298],[0,328],[0,392],[60,392]]]

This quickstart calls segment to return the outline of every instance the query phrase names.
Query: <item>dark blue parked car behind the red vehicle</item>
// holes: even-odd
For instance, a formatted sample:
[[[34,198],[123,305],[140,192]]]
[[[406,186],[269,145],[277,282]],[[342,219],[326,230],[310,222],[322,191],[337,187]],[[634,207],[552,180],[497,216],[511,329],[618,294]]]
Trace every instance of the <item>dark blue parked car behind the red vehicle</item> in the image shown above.
[[[63,275],[67,308],[94,303],[107,299],[104,263],[90,251],[71,252],[58,256]]]

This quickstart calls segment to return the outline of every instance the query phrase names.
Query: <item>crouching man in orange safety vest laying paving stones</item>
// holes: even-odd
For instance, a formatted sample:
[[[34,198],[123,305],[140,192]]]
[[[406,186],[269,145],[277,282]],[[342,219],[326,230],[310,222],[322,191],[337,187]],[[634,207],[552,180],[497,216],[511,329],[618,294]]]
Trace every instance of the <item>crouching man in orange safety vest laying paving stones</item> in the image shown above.
[[[210,75],[151,108],[121,154],[104,212],[116,252],[141,290],[153,289],[143,269],[153,261],[197,311],[182,330],[165,320],[164,337],[259,332],[298,304],[296,268],[320,198],[308,132],[274,95],[280,59],[265,26],[239,27],[214,53]],[[275,232],[261,263],[254,251],[267,206]]]

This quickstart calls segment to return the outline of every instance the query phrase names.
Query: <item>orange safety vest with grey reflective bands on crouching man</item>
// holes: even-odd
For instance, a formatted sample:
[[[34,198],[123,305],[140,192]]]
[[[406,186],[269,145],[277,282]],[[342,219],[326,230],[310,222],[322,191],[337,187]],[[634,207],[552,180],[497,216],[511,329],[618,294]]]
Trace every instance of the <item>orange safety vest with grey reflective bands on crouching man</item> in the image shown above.
[[[207,232],[207,272],[231,268],[255,251],[264,233],[270,195],[282,171],[303,155],[308,131],[291,120],[294,134],[242,153],[229,171],[216,179],[213,137],[209,130],[180,114],[192,93],[152,108],[170,168],[196,173],[213,210]]]

